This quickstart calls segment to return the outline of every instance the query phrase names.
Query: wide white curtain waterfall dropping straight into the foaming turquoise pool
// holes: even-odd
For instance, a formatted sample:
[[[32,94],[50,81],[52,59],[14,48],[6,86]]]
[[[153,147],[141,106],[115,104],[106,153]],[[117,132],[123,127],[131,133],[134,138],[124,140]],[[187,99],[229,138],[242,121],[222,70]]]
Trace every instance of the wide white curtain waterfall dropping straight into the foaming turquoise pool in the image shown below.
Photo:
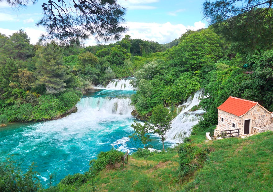
[[[77,104],[79,111],[92,108],[107,114],[126,115],[134,110],[130,98],[85,97]]]

